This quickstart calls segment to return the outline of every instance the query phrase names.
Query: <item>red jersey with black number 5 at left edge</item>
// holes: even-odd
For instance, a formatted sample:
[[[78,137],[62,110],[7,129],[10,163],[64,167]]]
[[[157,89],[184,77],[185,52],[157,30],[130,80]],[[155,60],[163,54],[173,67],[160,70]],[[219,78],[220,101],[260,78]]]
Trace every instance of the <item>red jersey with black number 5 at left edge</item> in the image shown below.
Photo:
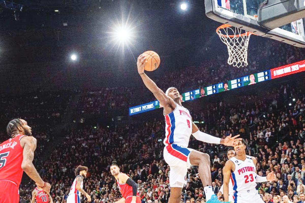
[[[23,169],[23,148],[20,139],[26,135],[16,135],[0,144],[0,180],[9,180],[19,187]]]

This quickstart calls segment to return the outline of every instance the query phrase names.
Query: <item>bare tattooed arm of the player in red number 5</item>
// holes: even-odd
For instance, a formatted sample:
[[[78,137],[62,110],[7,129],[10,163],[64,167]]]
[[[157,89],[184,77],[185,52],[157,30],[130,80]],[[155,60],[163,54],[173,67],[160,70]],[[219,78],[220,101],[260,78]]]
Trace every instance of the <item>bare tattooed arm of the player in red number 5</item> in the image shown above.
[[[21,163],[21,168],[32,180],[35,181],[35,183],[37,183],[42,188],[42,190],[49,194],[51,188],[50,183],[45,183],[41,179],[40,175],[35,169],[35,166],[33,165],[36,144],[37,140],[32,136],[25,136],[21,138],[20,145],[23,147],[23,160]]]

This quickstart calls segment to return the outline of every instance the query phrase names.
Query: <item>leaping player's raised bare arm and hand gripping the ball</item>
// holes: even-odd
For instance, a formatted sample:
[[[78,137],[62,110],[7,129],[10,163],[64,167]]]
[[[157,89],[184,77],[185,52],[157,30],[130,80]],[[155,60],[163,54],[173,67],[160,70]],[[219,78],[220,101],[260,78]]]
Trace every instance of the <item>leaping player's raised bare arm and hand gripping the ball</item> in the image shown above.
[[[154,81],[152,81],[145,73],[144,73],[144,66],[146,64],[145,55],[139,55],[137,66],[138,66],[138,73],[140,74],[143,83],[145,86],[152,92],[152,94],[156,97],[156,99],[160,102],[160,105],[163,106],[164,110],[172,110],[175,109],[176,104],[174,100],[168,97],[157,85]]]

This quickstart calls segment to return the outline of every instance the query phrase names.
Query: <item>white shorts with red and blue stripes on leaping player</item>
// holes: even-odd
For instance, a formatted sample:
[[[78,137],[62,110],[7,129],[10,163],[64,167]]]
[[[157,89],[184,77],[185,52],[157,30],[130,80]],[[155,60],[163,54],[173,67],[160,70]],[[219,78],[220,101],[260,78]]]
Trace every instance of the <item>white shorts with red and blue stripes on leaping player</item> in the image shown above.
[[[164,147],[164,160],[170,166],[170,187],[182,188],[186,184],[186,173],[191,166],[189,156],[192,150],[177,144],[169,144]]]

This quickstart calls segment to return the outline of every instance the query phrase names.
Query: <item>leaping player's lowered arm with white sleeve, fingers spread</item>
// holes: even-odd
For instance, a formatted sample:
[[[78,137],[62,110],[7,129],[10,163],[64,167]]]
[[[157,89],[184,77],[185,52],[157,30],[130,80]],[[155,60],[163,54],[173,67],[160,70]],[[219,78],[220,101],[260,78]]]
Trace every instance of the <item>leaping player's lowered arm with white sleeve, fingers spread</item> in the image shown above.
[[[214,137],[212,135],[201,132],[194,122],[192,122],[192,135],[196,140],[203,141],[212,144],[224,144],[226,146],[233,146],[235,141],[242,140],[242,138],[237,138],[239,135],[232,137],[232,135],[227,136],[225,139]]]

